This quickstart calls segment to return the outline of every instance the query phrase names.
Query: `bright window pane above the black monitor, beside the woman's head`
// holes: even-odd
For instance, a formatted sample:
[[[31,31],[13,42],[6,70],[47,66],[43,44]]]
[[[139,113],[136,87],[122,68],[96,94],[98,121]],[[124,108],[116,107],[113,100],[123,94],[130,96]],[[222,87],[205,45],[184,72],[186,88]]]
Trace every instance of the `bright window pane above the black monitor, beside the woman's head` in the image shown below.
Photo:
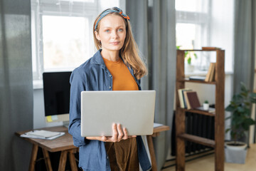
[[[89,20],[85,17],[43,16],[45,70],[80,66],[89,58]]]

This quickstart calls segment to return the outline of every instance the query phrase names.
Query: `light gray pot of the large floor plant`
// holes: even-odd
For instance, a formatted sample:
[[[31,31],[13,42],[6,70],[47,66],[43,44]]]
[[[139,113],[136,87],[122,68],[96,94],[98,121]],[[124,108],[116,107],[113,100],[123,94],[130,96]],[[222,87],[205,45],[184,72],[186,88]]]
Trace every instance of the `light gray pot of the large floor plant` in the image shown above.
[[[234,142],[225,142],[225,162],[245,164],[247,144],[237,142],[239,146],[231,145]]]

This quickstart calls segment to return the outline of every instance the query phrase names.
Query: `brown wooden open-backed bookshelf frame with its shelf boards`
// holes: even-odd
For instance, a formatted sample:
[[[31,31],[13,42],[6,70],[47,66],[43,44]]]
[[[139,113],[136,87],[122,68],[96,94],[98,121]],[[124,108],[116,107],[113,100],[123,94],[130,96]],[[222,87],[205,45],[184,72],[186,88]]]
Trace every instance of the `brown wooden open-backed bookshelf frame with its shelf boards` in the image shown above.
[[[194,81],[185,78],[184,73],[184,58],[185,51],[215,51],[216,66],[215,66],[215,81]],[[176,170],[185,170],[185,140],[196,142],[201,145],[214,147],[215,150],[215,170],[224,170],[224,88],[225,88],[225,51],[221,49],[215,50],[177,50],[176,56]],[[187,110],[181,108],[178,99],[178,89],[185,88],[185,83],[203,83],[215,85],[215,113],[208,113],[203,110]],[[215,140],[201,138],[195,135],[186,134],[185,115],[186,112],[198,113],[201,115],[210,115],[215,120]]]

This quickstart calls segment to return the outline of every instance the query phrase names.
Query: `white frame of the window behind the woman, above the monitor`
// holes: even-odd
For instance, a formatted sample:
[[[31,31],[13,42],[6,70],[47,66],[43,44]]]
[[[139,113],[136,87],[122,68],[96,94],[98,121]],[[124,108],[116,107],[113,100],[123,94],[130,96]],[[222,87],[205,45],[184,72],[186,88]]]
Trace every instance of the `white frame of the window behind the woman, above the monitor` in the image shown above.
[[[72,5],[70,5],[72,3]],[[99,13],[99,0],[94,3],[75,2],[65,0],[34,0],[31,1],[31,41],[33,44],[32,60],[36,60],[36,71],[33,71],[33,81],[42,81],[43,79],[43,27],[42,16],[79,16],[88,17],[90,28],[94,19]],[[92,33],[90,35],[90,55],[94,53],[95,47],[93,43]],[[35,61],[33,61],[35,62]],[[60,71],[55,69],[54,71]],[[67,71],[63,68],[61,71]],[[41,88],[41,86],[39,86]]]

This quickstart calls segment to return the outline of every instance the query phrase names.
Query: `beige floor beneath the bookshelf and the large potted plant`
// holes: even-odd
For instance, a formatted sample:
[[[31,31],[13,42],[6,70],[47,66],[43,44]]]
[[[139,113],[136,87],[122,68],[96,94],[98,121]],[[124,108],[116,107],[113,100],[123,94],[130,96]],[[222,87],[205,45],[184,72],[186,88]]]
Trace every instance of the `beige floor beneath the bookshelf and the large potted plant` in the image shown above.
[[[162,171],[174,171],[174,167]],[[208,155],[196,160],[186,162],[186,171],[214,171],[214,155]],[[225,162],[225,171],[256,171],[256,144],[250,145],[245,164]]]

